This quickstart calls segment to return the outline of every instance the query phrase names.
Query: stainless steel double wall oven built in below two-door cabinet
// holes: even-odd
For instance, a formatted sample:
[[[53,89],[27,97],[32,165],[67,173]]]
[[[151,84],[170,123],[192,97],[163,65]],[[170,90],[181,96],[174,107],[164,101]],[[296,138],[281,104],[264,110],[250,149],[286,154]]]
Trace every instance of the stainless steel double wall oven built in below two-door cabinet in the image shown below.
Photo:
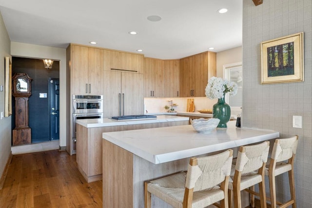
[[[73,153],[76,153],[76,120],[99,118],[103,118],[103,95],[73,95]]]

